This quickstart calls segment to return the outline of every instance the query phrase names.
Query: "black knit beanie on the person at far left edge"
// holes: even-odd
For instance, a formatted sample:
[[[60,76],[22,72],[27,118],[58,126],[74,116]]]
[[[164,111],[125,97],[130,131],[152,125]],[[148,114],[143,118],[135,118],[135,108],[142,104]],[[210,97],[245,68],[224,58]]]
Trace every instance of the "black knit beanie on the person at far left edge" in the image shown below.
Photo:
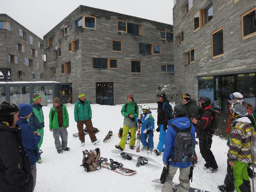
[[[14,114],[19,112],[19,108],[14,103],[3,101],[0,104],[0,123],[4,123],[8,127],[13,124]]]

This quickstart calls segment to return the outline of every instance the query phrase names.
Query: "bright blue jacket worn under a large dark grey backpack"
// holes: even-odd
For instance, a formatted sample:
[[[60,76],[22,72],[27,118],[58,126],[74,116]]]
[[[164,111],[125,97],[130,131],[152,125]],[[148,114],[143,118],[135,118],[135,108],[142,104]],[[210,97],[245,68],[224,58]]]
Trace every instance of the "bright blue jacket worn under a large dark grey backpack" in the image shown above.
[[[185,129],[189,128],[189,126],[191,124],[188,117],[173,118],[168,121],[168,124],[169,123],[176,125],[181,130],[185,130]],[[193,135],[194,142],[196,144],[195,130],[196,129],[195,129],[194,125],[192,124],[190,132]],[[173,129],[173,127],[171,125],[168,125],[168,129],[167,129],[166,136],[165,136],[165,150],[163,152],[163,162],[165,164],[167,164],[167,161],[168,161],[168,159],[170,159],[170,157],[174,156],[173,148],[175,147],[175,138],[176,138],[176,131]],[[179,168],[186,168],[186,167],[191,166],[192,162],[189,162],[189,164],[176,162],[174,165],[174,161],[170,161],[169,165],[174,166],[174,167],[179,167]]]

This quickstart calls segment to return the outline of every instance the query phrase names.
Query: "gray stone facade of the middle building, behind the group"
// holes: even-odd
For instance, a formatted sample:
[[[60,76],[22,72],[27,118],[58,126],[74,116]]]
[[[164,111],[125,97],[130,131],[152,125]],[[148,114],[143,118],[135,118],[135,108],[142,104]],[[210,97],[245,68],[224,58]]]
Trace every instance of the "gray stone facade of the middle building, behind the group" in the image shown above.
[[[76,20],[82,15],[96,17],[95,30],[76,29]],[[141,25],[141,35],[118,32],[117,19]],[[68,33],[61,38],[66,25]],[[45,79],[72,83],[73,102],[79,93],[84,93],[95,103],[97,82],[113,82],[114,104],[124,103],[128,94],[140,103],[155,102],[157,83],[174,83],[174,74],[161,72],[161,64],[173,65],[174,58],[173,42],[161,40],[160,30],[173,33],[172,25],[80,5],[44,36],[44,45],[47,38],[52,44],[45,50]],[[68,43],[77,39],[79,49],[68,53]],[[112,39],[122,41],[122,52],[112,51]],[[161,55],[140,54],[139,42],[161,45]],[[55,59],[59,46],[61,57]],[[92,68],[93,57],[118,59],[118,69]],[[141,60],[141,74],[131,74],[131,60]],[[61,64],[65,62],[71,62],[69,74],[61,74]],[[52,75],[52,67],[56,67],[56,75]]]

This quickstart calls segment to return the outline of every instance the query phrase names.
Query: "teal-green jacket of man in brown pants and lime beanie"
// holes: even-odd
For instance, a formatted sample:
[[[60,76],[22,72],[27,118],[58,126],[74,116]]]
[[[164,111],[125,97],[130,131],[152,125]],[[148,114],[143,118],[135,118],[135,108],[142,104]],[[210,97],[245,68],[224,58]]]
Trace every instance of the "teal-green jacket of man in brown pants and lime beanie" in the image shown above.
[[[76,122],[91,119],[91,105],[87,99],[84,104],[80,99],[75,103],[74,117]]]

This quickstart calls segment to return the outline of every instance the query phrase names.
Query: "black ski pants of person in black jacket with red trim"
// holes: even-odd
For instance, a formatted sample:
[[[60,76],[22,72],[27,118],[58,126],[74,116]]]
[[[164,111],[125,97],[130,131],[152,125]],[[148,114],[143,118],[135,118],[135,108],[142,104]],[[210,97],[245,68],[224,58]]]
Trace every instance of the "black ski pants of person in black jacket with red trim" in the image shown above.
[[[204,161],[208,167],[212,167],[214,169],[218,168],[217,162],[215,161],[214,155],[211,151],[212,138],[201,139],[199,138],[199,148]]]

